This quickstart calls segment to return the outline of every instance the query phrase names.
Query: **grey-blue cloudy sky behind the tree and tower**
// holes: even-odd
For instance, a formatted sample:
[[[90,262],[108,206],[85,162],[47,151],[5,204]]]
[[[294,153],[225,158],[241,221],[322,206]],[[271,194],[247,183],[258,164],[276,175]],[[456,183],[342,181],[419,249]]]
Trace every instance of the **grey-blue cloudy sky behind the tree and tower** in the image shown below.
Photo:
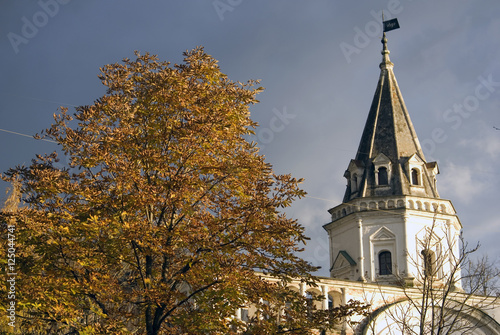
[[[438,189],[465,237],[498,259],[500,2],[485,0],[40,0],[0,2],[2,130],[33,135],[58,106],[104,94],[99,67],[133,51],[172,62],[203,45],[232,80],[261,79],[251,108],[267,160],[306,179],[289,214],[313,238],[305,258],[328,268],[327,209],[342,200],[377,84],[380,11],[391,60]],[[0,170],[56,145],[0,131]],[[2,185],[2,190],[5,185]],[[326,274],[323,270],[321,274]]]

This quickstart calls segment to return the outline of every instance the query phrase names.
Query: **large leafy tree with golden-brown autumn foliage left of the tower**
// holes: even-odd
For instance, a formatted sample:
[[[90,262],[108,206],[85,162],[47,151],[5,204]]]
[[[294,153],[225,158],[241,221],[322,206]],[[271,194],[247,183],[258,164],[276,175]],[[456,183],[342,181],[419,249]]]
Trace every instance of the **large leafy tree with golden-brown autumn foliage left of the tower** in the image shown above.
[[[67,167],[52,153],[2,176],[20,193],[2,222],[16,225],[21,332],[303,334],[362,309],[316,311],[287,288],[315,280],[304,228],[281,211],[305,193],[248,141],[258,83],[229,80],[202,48],[180,65],[136,56],[40,135]]]

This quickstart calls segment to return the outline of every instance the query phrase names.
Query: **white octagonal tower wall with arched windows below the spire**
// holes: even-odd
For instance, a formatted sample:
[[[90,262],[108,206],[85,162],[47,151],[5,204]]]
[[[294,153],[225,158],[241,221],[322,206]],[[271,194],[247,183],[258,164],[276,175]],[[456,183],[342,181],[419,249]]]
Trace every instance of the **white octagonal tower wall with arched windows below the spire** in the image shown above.
[[[364,198],[329,212],[332,221],[324,228],[329,234],[334,278],[384,284],[419,280],[424,273],[424,249],[438,257],[442,277],[451,269],[448,259],[458,257],[461,224],[448,200]],[[390,271],[381,270],[382,252],[390,253]],[[348,264],[344,253],[356,264]]]

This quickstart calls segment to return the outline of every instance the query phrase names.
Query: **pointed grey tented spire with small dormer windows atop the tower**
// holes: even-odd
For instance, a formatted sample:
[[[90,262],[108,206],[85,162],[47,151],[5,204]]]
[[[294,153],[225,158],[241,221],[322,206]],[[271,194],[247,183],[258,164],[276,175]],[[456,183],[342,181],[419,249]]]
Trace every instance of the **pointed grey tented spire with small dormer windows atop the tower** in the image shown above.
[[[368,113],[356,159],[345,173],[344,202],[354,198],[418,195],[438,198],[436,163],[427,163],[406,109],[382,37],[380,78]]]

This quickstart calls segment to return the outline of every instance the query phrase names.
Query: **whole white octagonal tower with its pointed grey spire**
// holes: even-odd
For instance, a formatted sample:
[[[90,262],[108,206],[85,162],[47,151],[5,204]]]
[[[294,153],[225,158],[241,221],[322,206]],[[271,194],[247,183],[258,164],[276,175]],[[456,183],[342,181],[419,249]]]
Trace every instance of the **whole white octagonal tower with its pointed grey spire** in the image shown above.
[[[358,151],[344,173],[342,204],[324,225],[330,275],[384,284],[445,278],[458,257],[462,225],[436,186],[382,38],[380,77]]]

